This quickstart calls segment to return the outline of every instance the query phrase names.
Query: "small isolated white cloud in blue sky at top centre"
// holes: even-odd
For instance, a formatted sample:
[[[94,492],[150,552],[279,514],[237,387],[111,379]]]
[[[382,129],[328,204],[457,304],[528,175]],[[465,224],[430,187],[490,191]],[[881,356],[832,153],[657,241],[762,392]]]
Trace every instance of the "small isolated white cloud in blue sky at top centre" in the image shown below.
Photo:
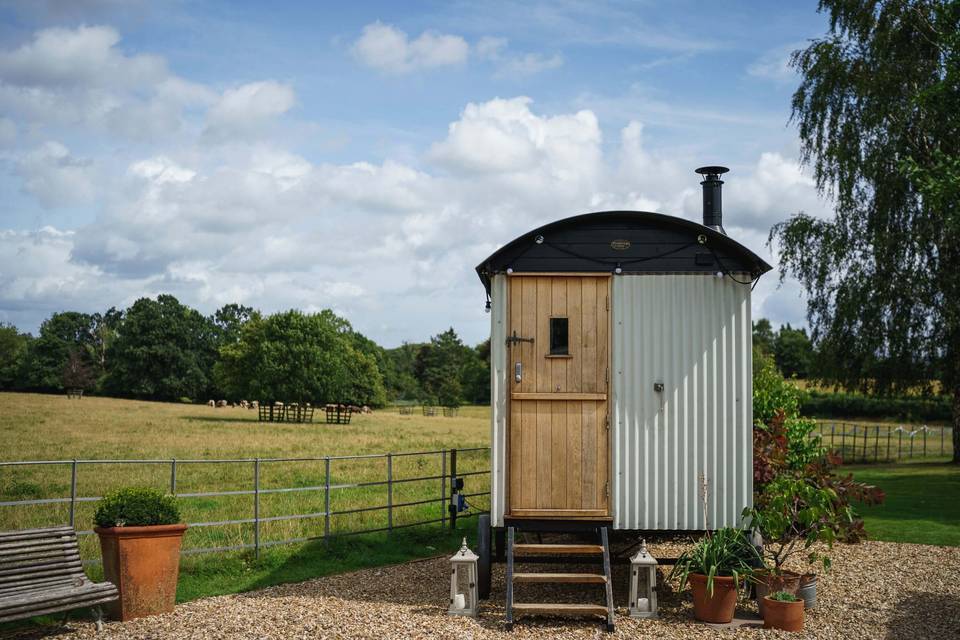
[[[470,47],[460,36],[424,31],[411,40],[406,32],[382,22],[363,28],[353,54],[385,73],[409,73],[466,62]]]

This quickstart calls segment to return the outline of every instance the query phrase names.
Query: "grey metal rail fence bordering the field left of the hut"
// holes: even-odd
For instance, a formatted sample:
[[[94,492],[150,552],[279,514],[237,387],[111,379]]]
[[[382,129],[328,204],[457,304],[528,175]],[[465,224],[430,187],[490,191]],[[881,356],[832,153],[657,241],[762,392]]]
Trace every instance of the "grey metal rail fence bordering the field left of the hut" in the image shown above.
[[[187,514],[187,540],[201,543],[185,545],[185,555],[252,549],[259,556],[267,547],[308,540],[435,523],[455,527],[458,517],[484,513],[484,503],[489,504],[489,453],[488,447],[473,447],[311,458],[0,461],[0,529],[69,524],[78,529],[81,550],[89,557],[85,562],[99,562],[91,536],[95,503],[102,492],[84,495],[80,481],[84,478],[105,492],[120,484],[123,470],[130,468],[137,473],[126,477],[148,478],[151,482],[139,484],[152,484],[178,498]],[[269,472],[281,466],[287,466],[286,473],[271,476]],[[189,483],[193,487],[185,487],[184,476],[199,468],[207,472],[194,473]],[[98,473],[84,473],[91,469]],[[291,475],[292,471],[300,473]],[[158,475],[164,476],[160,486]],[[277,481],[269,482],[271,477],[287,482],[278,486]],[[286,486],[291,481],[297,486]],[[191,490],[198,485],[207,488]],[[69,488],[69,493],[7,499],[24,486],[41,492],[47,487]],[[218,499],[227,504],[217,504]],[[268,511],[265,502],[271,499],[278,502]],[[45,513],[45,508],[54,511]],[[464,508],[466,512],[461,512]],[[203,517],[209,514],[228,517]],[[265,535],[266,528],[278,524],[286,526]],[[236,533],[238,527],[246,531]],[[199,533],[231,528],[233,536]],[[224,539],[233,543],[216,543]]]

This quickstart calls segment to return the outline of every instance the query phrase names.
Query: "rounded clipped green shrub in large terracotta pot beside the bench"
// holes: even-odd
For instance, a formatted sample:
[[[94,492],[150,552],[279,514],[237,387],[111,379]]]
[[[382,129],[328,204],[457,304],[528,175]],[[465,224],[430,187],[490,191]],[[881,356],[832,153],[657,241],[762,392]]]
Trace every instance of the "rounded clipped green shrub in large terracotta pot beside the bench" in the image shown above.
[[[94,515],[103,575],[120,598],[111,614],[120,620],[173,611],[180,572],[180,542],[187,525],[173,496],[126,488],[103,497]]]

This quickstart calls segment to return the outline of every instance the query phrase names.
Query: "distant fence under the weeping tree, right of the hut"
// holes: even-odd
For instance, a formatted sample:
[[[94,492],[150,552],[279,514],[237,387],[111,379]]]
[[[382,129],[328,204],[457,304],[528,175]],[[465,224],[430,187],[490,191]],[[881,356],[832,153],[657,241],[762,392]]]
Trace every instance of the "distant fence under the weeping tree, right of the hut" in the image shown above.
[[[950,427],[818,422],[823,445],[847,464],[953,456]]]

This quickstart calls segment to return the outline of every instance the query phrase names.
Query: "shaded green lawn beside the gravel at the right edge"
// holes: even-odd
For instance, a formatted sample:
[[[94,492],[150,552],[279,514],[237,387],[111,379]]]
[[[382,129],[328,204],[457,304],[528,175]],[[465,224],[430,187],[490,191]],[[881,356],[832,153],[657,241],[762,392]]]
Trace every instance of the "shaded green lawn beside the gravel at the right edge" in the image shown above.
[[[916,463],[846,467],[884,490],[882,505],[861,509],[874,540],[960,546],[960,465]]]

